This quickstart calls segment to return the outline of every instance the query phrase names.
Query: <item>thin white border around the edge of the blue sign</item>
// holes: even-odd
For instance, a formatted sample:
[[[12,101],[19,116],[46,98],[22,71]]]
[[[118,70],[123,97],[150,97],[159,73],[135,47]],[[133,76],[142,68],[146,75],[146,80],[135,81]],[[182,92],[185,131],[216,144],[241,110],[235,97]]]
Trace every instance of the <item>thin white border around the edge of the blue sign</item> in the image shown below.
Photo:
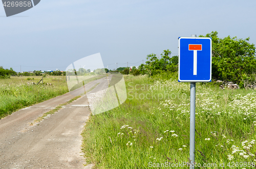
[[[209,39],[210,40],[210,79],[209,80],[180,80],[180,39]],[[179,70],[178,70],[178,79],[179,82],[211,82],[211,38],[208,37],[179,37]]]

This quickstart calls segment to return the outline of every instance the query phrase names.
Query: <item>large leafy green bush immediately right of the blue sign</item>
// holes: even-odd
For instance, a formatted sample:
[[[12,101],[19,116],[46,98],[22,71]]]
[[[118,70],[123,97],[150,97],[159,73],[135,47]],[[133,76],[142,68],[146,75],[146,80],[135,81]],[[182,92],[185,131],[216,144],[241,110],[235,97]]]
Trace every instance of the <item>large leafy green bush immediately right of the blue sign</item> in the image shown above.
[[[218,32],[206,36],[212,40],[212,77],[227,80],[243,86],[242,79],[255,71],[255,46],[246,39],[227,36],[218,38]]]

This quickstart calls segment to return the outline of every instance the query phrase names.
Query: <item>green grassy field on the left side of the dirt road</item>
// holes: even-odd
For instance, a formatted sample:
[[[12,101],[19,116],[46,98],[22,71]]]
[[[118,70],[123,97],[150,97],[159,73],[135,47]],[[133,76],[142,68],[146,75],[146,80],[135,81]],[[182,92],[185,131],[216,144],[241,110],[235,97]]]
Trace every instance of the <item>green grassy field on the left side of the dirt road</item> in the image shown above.
[[[41,82],[38,85],[31,84],[32,82],[37,84],[40,79],[41,77],[38,76],[0,79],[0,118],[69,91],[65,76],[46,76],[44,85]]]

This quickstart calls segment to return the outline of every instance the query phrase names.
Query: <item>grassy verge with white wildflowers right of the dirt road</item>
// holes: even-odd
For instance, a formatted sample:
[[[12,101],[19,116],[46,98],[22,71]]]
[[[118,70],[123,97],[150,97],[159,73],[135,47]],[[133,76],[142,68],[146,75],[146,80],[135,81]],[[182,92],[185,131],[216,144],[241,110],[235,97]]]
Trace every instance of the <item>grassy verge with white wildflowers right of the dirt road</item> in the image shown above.
[[[125,103],[91,115],[84,128],[88,162],[96,168],[188,168],[189,83],[146,76],[125,76],[125,83]],[[195,168],[254,168],[255,110],[255,90],[197,83]]]

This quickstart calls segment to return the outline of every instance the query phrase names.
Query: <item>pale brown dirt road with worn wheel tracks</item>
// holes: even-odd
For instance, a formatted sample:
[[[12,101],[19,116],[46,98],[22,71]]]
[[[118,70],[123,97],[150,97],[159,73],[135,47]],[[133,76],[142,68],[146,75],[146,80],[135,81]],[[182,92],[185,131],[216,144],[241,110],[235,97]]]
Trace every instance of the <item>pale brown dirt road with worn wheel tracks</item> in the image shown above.
[[[85,85],[90,91],[108,86],[102,78]],[[0,120],[0,168],[92,168],[81,152],[81,132],[89,118],[88,99],[83,95],[40,123],[42,114],[74,98],[70,93],[19,110]]]

